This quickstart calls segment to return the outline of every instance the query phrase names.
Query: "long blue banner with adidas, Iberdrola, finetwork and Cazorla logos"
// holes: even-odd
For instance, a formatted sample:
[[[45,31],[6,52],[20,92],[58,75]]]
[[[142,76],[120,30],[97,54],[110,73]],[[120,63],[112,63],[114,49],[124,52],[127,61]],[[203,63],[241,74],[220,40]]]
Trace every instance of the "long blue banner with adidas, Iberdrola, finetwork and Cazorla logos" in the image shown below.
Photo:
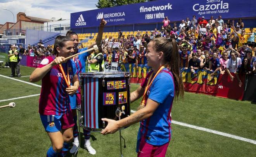
[[[102,18],[107,20],[107,25],[125,25],[162,22],[166,16],[171,21],[192,18],[192,15],[205,19],[210,19],[211,15],[215,19],[219,15],[223,18],[256,17],[255,8],[255,0],[247,0],[246,4],[240,0],[156,0],[71,13],[70,27],[98,27]]]

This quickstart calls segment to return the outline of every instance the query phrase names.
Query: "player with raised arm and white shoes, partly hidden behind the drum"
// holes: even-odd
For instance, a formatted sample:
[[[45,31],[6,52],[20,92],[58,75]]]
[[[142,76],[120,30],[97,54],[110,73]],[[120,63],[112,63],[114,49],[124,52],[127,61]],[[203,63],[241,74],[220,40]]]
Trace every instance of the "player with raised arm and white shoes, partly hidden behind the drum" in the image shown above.
[[[94,43],[92,43],[90,46],[83,48],[83,49],[79,49],[79,50],[78,50],[78,35],[76,34],[76,32],[69,30],[67,32],[66,36],[70,37],[74,41],[75,53],[79,53],[79,52],[85,51],[87,49],[90,49],[95,44],[97,44],[97,46],[99,47],[99,50],[101,51],[100,43],[101,43],[101,39],[102,39],[103,29],[106,24],[107,24],[107,22],[104,19],[102,19],[100,22],[99,32],[96,37],[96,41]],[[85,52],[85,53],[80,54],[73,58],[73,61],[76,63],[76,68],[78,70],[78,72],[77,72],[78,78],[79,78],[80,73],[88,72],[88,67],[86,68],[86,66],[87,66],[86,60],[87,60],[87,57],[90,56],[90,54],[92,52],[93,52],[93,50],[89,51],[89,52]],[[80,146],[79,140],[78,140],[78,126],[77,126],[77,113],[76,113],[76,106],[81,104],[80,88],[78,89],[78,93],[76,93],[76,95],[69,95],[69,97],[71,100],[71,109],[72,109],[74,123],[75,123],[74,130],[73,130],[73,136],[74,136],[73,147],[69,151],[71,154],[73,154],[78,150],[78,147]],[[90,154],[96,154],[96,150],[93,149],[93,147],[91,146],[91,143],[90,143],[90,131],[84,129],[83,134],[85,137],[85,145],[84,145],[85,149],[88,150],[88,152]]]

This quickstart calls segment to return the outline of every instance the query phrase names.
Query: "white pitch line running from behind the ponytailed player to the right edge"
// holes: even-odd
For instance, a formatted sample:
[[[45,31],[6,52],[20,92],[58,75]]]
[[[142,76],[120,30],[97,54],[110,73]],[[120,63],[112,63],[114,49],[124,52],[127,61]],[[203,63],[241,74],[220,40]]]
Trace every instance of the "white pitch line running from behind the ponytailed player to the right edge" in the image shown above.
[[[131,113],[134,113],[134,112],[135,111],[131,110]],[[216,130],[211,130],[211,129],[203,128],[203,127],[197,127],[195,125],[190,125],[190,124],[186,124],[186,123],[182,123],[182,122],[177,122],[175,120],[171,120],[171,123],[176,124],[176,125],[182,125],[184,127],[194,128],[194,129],[197,129],[197,130],[202,130],[202,131],[205,131],[205,132],[214,133],[214,134],[217,134],[217,135],[221,135],[221,136],[225,136],[225,137],[230,137],[230,138],[234,138],[234,139],[237,139],[237,140],[241,140],[241,141],[245,141],[245,142],[256,144],[256,140],[251,140],[251,139],[248,139],[248,138],[244,138],[244,137],[240,137],[240,136],[236,136],[236,135],[231,135],[229,133],[219,132],[219,131],[216,131]]]

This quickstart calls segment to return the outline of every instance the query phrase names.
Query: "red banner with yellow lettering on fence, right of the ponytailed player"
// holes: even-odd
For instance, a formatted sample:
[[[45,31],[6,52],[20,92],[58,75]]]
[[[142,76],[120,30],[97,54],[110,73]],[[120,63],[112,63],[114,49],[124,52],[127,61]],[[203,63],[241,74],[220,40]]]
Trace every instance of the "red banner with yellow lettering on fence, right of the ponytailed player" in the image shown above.
[[[185,87],[185,91],[193,93],[203,93],[207,95],[219,96],[223,98],[232,98],[242,100],[244,95],[244,76],[239,75],[243,84],[239,87],[238,79],[235,74],[234,81],[230,80],[227,73],[216,74],[213,78],[210,76],[210,72],[206,70],[197,70],[195,74],[190,72],[190,69],[182,70],[182,79]]]

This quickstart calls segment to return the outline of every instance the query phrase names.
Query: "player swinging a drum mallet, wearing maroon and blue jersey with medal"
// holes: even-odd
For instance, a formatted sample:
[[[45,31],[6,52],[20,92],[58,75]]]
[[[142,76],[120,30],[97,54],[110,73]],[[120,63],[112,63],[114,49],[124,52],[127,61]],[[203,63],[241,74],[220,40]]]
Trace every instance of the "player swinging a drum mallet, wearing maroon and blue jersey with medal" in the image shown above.
[[[55,56],[43,59],[29,78],[31,82],[42,80],[39,113],[52,142],[47,157],[65,156],[68,151],[74,126],[69,95],[74,95],[79,87],[74,61],[65,60],[74,54],[73,40],[57,36],[53,53]]]

